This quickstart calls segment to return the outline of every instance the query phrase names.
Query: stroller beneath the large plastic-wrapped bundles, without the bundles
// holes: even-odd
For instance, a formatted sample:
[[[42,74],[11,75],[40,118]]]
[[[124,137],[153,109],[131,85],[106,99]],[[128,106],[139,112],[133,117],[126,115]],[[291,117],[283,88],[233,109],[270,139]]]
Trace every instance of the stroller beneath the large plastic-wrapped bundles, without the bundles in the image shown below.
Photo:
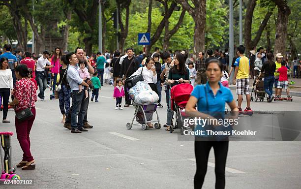
[[[126,87],[127,91],[129,91],[129,89],[131,88],[131,85],[126,85],[127,86]],[[148,85],[148,84],[146,84],[146,85]],[[133,102],[133,105],[134,105],[134,108],[135,108],[135,113],[134,113],[134,117],[132,119],[132,122],[126,124],[127,129],[131,129],[132,126],[141,125],[142,130],[146,130],[146,129],[149,128],[149,126],[147,125],[148,123],[155,123],[154,124],[155,129],[161,128],[160,119],[159,119],[159,115],[158,115],[158,112],[157,112],[157,103],[137,104],[137,103],[134,102],[133,98],[132,98],[132,102]],[[154,112],[157,115],[156,120],[152,120],[152,115],[153,115]],[[138,124],[134,124],[135,118],[136,118],[136,121],[138,122]]]

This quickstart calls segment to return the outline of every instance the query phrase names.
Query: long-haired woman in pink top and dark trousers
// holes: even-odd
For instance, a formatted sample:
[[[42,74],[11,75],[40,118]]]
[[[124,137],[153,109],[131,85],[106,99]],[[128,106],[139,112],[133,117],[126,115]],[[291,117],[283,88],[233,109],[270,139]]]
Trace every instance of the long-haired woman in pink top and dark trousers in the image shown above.
[[[53,65],[53,67],[51,68],[51,73],[53,77],[53,85],[52,85],[53,98],[56,91],[58,73],[60,73],[60,66],[61,66],[60,57],[61,57],[61,50],[59,47],[56,47],[54,51],[54,55],[51,57],[51,65]]]

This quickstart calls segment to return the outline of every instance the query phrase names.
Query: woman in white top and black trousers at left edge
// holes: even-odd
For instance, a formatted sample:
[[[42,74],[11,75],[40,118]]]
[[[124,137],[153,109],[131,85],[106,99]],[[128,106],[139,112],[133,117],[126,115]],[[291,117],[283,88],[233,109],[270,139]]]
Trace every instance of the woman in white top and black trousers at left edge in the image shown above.
[[[8,112],[9,95],[13,95],[14,85],[12,79],[12,72],[8,66],[8,59],[3,57],[0,59],[0,96],[3,99],[3,120],[2,123],[10,123],[6,120]],[[0,103],[1,104],[1,103]]]

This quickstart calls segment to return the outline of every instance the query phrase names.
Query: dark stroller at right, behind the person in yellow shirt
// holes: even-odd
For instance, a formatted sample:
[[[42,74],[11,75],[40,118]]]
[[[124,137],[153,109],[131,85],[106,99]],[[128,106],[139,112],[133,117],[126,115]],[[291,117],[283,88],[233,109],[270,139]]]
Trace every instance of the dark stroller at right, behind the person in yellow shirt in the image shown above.
[[[253,88],[251,92],[251,100],[253,101],[255,99],[255,102],[259,99],[260,101],[264,101],[264,98],[266,97],[266,92],[264,89],[264,73],[258,72],[258,74],[255,76],[255,80],[253,83]],[[252,95],[255,95],[254,97]]]

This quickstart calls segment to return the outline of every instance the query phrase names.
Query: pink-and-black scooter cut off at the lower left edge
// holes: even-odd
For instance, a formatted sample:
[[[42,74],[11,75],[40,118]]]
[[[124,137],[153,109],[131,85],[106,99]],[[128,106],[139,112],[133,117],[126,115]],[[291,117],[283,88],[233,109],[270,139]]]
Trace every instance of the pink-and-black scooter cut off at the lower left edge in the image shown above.
[[[0,158],[1,158],[1,168],[2,173],[0,177],[0,182],[5,180],[20,180],[20,177],[15,174],[16,169],[12,167],[12,150],[11,150],[11,136],[12,132],[0,132]],[[4,154],[2,154],[2,149]]]

